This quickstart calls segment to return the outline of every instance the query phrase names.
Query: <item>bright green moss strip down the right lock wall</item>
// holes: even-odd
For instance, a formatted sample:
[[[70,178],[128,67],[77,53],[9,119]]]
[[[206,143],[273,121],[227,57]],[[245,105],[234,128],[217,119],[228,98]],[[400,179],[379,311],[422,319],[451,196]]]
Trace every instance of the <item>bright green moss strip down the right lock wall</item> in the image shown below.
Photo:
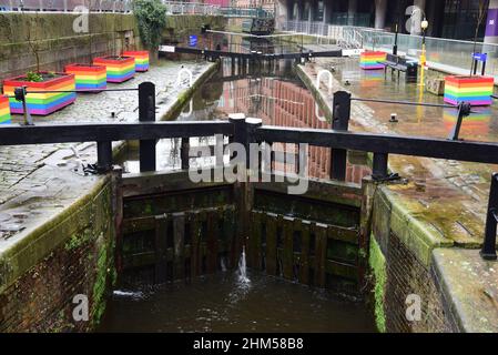
[[[375,241],[375,236],[370,236],[370,253],[368,258],[368,265],[372,272],[374,281],[374,313],[375,324],[377,329],[382,333],[386,332],[386,315],[384,312],[384,297],[386,292],[386,258],[380,251],[379,245]]]

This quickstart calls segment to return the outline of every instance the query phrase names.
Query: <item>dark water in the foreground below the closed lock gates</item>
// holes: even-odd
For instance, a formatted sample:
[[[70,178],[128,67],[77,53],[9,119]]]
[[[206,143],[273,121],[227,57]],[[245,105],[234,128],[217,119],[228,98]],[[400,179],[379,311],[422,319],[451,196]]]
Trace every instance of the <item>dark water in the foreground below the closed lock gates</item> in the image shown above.
[[[233,272],[192,283],[116,292],[101,332],[375,332],[363,303],[323,290],[250,273]]]

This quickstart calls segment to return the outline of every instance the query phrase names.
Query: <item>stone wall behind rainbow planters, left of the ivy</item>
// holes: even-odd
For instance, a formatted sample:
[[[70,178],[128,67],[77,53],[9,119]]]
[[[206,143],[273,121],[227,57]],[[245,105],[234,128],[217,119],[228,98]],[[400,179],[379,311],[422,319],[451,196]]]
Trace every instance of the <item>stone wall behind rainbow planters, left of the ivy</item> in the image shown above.
[[[77,13],[0,14],[0,80],[37,69],[62,71],[71,62],[140,48],[133,14],[91,13],[89,33],[77,33]],[[77,27],[78,28],[78,27]]]

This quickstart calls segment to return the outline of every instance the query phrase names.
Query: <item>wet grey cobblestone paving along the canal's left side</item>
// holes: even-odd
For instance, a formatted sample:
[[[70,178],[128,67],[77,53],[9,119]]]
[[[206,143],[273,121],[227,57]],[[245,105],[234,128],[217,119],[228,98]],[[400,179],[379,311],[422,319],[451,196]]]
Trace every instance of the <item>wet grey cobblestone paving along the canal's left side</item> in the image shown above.
[[[184,63],[193,72],[194,80],[211,65],[205,62]],[[189,84],[186,75],[177,83],[181,67],[177,62],[162,61],[146,73],[136,73],[133,80],[109,84],[108,88],[136,88],[140,82],[154,82],[161,115]],[[22,116],[17,115],[13,122],[21,120]],[[34,116],[35,123],[132,121],[138,121],[135,91],[79,94],[71,106],[47,118]],[[0,253],[32,227],[91,191],[101,178],[85,175],[82,165],[95,161],[95,143],[0,148]]]

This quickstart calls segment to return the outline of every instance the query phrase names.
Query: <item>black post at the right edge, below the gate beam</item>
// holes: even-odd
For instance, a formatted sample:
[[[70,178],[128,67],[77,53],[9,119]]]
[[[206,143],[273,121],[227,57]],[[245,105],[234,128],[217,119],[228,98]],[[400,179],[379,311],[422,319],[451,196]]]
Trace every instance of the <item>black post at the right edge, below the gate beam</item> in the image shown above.
[[[489,191],[488,216],[486,219],[485,242],[480,256],[484,260],[497,260],[496,233],[498,223],[498,173],[492,174],[491,189]]]

